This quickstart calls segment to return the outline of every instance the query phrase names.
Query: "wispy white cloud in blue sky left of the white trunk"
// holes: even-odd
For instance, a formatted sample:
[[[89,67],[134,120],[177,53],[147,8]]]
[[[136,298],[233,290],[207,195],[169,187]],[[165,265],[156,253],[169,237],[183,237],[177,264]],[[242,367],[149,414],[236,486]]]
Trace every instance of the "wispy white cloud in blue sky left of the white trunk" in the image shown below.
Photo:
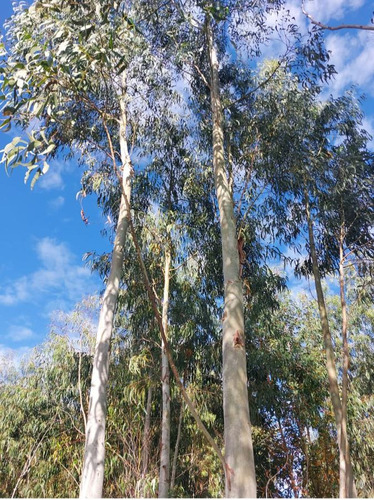
[[[0,304],[36,303],[42,298],[47,307],[50,302],[56,306],[79,301],[86,295],[92,286],[91,273],[82,264],[76,264],[65,243],[42,238],[37,242],[36,253],[41,263],[39,269],[0,289]]]

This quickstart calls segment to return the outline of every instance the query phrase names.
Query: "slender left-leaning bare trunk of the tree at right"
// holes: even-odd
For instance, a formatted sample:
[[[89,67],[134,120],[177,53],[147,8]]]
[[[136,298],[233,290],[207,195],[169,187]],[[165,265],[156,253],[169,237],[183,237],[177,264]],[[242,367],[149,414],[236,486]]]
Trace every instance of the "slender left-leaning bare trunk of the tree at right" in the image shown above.
[[[338,436],[338,449],[339,449],[339,497],[346,498],[346,477],[348,470],[352,473],[352,468],[350,465],[350,459],[347,461],[347,449],[346,449],[346,429],[343,427],[343,410],[342,403],[339,396],[339,385],[338,385],[338,377],[336,372],[336,364],[335,364],[335,353],[334,346],[332,343],[331,332],[327,317],[327,308],[325,303],[325,297],[322,289],[321,275],[318,267],[318,259],[317,259],[317,251],[314,240],[314,231],[313,231],[313,221],[310,214],[310,206],[309,206],[309,195],[307,190],[305,189],[305,212],[307,216],[308,222],[308,235],[309,235],[309,247],[310,254],[312,258],[312,267],[313,267],[313,275],[314,282],[317,294],[317,302],[318,302],[318,310],[321,320],[321,328],[323,333],[323,340],[326,352],[326,367],[327,367],[327,376],[329,381],[329,392],[332,402],[332,407],[334,411],[336,430]],[[345,434],[344,434],[345,433]],[[353,478],[352,478],[353,479]]]

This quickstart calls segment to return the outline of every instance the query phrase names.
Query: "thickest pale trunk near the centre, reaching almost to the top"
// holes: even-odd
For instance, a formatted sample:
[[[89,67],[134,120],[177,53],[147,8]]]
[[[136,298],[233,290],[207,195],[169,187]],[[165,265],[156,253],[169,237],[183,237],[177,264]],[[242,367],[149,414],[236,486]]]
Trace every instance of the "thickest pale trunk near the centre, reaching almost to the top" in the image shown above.
[[[213,167],[220,213],[223,276],[223,412],[225,428],[226,496],[255,497],[256,477],[249,420],[244,308],[232,191],[229,186],[223,143],[223,116],[218,58],[212,27],[206,19],[210,61],[210,95],[213,120]]]

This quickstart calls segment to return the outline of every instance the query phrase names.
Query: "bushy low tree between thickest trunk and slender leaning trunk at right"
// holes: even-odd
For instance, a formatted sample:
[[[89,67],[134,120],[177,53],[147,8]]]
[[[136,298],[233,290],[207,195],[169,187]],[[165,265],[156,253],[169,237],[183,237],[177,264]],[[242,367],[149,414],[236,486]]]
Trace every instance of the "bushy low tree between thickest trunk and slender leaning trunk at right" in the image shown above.
[[[335,491],[319,481],[325,463],[318,463],[313,446],[319,443],[311,439],[333,443],[318,313],[306,297],[278,300],[276,309],[257,312],[256,335],[248,341],[258,488],[262,497],[330,497]]]

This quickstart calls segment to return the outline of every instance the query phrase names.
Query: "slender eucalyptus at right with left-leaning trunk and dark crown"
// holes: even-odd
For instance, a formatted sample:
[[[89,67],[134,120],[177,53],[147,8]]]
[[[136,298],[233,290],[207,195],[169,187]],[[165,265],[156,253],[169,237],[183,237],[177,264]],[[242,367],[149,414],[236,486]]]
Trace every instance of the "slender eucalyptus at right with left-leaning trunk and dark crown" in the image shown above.
[[[359,108],[352,97],[345,96],[319,103],[318,87],[305,91],[299,87],[298,78],[288,75],[282,81],[284,76],[279,76],[279,80],[274,79],[269,84],[269,87],[272,86],[273,97],[264,94],[263,99],[259,100],[260,109],[265,109],[272,120],[270,122],[262,119],[259,123],[266,152],[266,156],[260,161],[259,171],[263,168],[261,175],[272,191],[265,210],[271,210],[274,220],[277,220],[277,237],[280,240],[293,245],[299,251],[301,244],[297,238],[305,237],[307,241],[309,258],[303,265],[297,266],[297,271],[313,274],[315,279],[330,396],[338,434],[340,496],[352,496],[355,494],[355,488],[344,416],[348,370],[346,329],[343,328],[345,368],[341,400],[334,345],[321,280],[328,273],[339,272],[342,251],[339,241],[342,228],[344,232],[348,227],[352,230],[352,254],[357,255],[359,248],[362,251],[362,245],[366,248],[371,240],[368,221],[372,220],[369,173],[372,160],[367,150],[368,136],[360,131]],[[266,123],[270,124],[267,131]],[[346,173],[343,174],[345,169]],[[358,186],[361,186],[360,195],[356,198]],[[342,194],[342,198],[348,197],[350,204],[345,205],[342,198],[338,199],[338,193]],[[362,217],[355,215],[346,226],[343,222],[343,206],[344,210],[349,206],[351,214],[362,211]],[[354,237],[356,222],[357,233]],[[315,236],[316,230],[318,238]],[[350,238],[348,233],[347,238],[346,243]],[[344,286],[341,279],[340,283],[344,303]]]

